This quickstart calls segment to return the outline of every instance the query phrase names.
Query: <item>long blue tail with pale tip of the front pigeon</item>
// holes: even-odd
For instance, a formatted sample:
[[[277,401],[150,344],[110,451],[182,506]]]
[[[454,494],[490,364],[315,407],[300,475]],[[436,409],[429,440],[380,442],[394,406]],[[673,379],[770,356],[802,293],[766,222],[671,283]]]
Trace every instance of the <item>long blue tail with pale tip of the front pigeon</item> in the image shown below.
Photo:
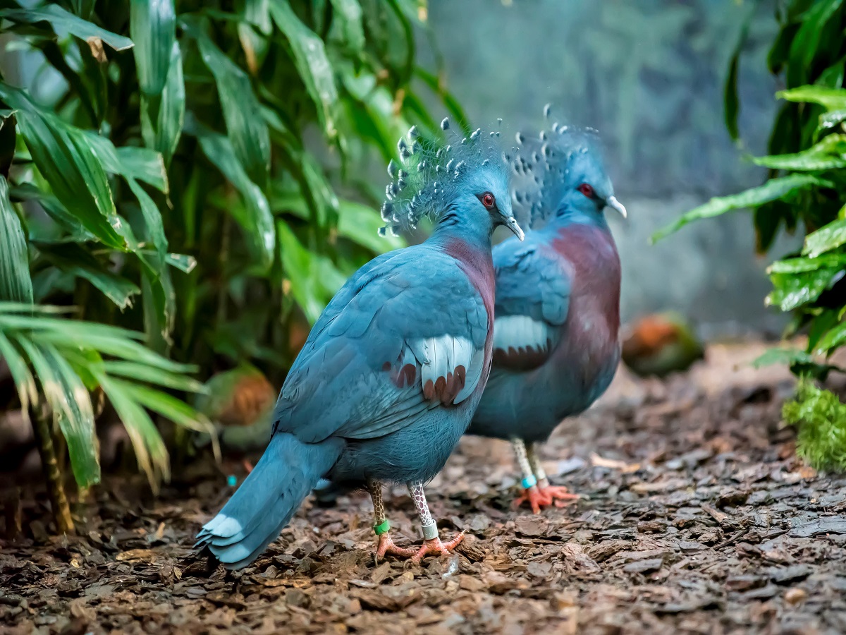
[[[277,538],[312,488],[338,461],[342,439],[303,443],[278,433],[223,509],[197,534],[227,569],[255,560]]]

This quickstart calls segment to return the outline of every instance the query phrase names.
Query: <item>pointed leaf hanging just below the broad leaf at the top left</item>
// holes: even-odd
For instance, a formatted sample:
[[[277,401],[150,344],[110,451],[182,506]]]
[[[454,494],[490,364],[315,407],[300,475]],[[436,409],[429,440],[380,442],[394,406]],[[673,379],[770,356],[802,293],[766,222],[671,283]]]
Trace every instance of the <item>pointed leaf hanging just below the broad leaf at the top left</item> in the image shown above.
[[[179,42],[173,42],[168,77],[161,94],[141,93],[141,135],[147,147],[162,153],[165,165],[170,165],[179,145],[185,119],[185,82],[182,75],[182,52]]]

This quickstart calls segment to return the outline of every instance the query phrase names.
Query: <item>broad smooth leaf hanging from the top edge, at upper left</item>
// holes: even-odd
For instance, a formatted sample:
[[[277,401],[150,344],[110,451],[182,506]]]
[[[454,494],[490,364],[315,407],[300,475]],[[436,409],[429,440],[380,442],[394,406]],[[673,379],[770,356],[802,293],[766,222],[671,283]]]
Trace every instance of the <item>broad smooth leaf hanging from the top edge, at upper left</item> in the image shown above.
[[[135,42],[133,54],[141,91],[158,97],[168,81],[171,53],[176,43],[173,0],[131,0],[129,35]]]

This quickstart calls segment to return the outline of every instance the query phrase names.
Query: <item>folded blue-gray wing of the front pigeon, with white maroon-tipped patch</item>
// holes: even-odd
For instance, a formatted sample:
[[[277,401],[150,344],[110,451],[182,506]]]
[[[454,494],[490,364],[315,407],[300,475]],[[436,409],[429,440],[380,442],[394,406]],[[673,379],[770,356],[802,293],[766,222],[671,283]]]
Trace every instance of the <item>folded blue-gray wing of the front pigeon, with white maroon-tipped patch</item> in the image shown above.
[[[274,433],[371,439],[461,403],[485,369],[487,312],[453,257],[431,246],[371,261],[338,291],[288,373]]]

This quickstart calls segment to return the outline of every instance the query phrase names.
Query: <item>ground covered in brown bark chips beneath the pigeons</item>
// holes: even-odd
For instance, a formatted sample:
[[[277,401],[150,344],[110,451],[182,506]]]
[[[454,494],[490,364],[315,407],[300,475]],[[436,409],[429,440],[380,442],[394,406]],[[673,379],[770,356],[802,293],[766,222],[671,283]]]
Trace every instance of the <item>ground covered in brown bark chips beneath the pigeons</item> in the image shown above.
[[[711,346],[664,383],[619,373],[544,450],[583,499],[540,516],[510,508],[508,444],[465,439],[427,489],[465,544],[422,566],[374,561],[365,494],[304,505],[229,575],[191,549],[222,474],[157,500],[112,480],[73,537],[25,500],[25,538],[0,543],[0,632],[846,632],[846,478],[794,458],[792,380],[744,364],[760,351]],[[394,539],[419,540],[404,489],[386,503]]]

